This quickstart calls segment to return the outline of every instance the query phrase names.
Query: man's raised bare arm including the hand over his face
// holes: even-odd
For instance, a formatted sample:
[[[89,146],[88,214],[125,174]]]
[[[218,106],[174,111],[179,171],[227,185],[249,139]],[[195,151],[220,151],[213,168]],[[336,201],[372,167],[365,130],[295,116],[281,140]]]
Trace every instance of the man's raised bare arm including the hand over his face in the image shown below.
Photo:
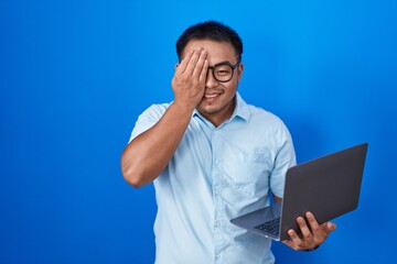
[[[192,52],[172,79],[174,101],[149,130],[135,138],[121,155],[121,172],[135,187],[153,182],[167,166],[189,125],[194,108],[204,95],[208,68],[205,51]]]

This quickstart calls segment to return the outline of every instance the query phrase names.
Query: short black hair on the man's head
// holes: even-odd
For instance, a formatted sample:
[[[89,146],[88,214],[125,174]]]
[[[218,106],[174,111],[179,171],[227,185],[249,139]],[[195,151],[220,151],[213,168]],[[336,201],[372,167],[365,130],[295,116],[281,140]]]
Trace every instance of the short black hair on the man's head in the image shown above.
[[[176,54],[181,61],[184,48],[192,40],[210,40],[216,42],[227,42],[234,47],[238,58],[242,59],[243,54],[243,41],[238,36],[237,32],[232,28],[217,22],[206,21],[187,28],[176,41]]]

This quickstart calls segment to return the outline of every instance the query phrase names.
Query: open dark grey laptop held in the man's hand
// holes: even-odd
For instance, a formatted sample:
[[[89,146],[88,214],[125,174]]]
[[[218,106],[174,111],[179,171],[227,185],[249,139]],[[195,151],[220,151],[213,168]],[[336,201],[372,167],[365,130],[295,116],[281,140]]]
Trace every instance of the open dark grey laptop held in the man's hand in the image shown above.
[[[232,219],[230,222],[268,239],[288,240],[300,232],[296,219],[311,211],[321,224],[358,206],[368,143],[302,163],[288,169],[280,202]]]

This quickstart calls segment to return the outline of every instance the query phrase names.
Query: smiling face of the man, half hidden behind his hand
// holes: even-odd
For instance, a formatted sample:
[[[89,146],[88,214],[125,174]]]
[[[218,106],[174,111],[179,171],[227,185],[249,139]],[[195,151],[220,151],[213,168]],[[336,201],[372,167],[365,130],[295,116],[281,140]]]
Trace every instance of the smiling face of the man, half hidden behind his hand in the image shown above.
[[[191,51],[198,51],[200,48],[204,48],[208,53],[207,61],[210,66],[225,62],[235,65],[238,62],[238,55],[232,44],[227,42],[192,40],[187,43],[183,54],[189,54]],[[204,96],[196,109],[215,127],[229,119],[235,109],[235,95],[242,78],[243,64],[238,64],[234,70],[235,73],[230,80],[221,82],[214,78],[213,73],[211,73],[212,69],[208,69]]]

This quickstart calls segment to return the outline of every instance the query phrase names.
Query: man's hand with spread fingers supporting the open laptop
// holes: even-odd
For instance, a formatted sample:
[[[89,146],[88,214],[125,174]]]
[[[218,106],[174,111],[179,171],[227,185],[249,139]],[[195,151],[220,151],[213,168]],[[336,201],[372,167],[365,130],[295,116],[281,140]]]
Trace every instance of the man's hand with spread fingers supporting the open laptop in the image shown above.
[[[322,244],[329,234],[336,229],[336,224],[332,222],[325,222],[319,226],[314,216],[311,212],[305,215],[310,228],[302,217],[297,219],[299,228],[301,230],[301,235],[298,235],[297,232],[292,229],[288,231],[291,240],[282,241],[289,248],[296,251],[311,250],[320,244]]]

